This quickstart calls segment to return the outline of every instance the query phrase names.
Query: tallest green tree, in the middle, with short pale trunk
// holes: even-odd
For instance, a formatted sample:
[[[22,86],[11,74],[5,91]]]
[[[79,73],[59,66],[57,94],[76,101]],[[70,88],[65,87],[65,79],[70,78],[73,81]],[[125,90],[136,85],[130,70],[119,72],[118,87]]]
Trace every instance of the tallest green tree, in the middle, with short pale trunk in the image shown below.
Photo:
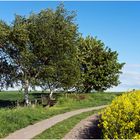
[[[59,5],[55,11],[43,10],[30,19],[31,39],[41,58],[40,86],[50,89],[50,98],[55,88],[68,89],[80,75],[77,61],[78,27],[74,23],[75,13]],[[35,32],[32,32],[35,31]],[[39,44],[38,44],[39,42]]]

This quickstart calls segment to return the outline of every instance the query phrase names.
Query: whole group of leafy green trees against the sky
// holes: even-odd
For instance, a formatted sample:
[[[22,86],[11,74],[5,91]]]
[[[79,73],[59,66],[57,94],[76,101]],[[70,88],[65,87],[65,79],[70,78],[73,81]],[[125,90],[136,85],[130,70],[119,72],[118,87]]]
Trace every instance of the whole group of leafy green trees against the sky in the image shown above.
[[[117,86],[124,63],[118,53],[88,36],[83,38],[75,12],[63,4],[28,17],[16,15],[12,24],[0,21],[0,87],[22,85],[26,104],[29,87],[78,92],[104,91]]]

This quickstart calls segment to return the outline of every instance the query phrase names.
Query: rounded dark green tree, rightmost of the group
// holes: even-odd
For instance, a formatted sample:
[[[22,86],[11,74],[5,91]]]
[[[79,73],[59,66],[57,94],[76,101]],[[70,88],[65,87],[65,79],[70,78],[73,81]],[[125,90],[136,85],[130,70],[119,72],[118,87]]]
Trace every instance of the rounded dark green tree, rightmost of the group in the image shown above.
[[[81,87],[84,92],[104,91],[117,86],[124,63],[118,62],[118,53],[105,47],[97,38],[80,38],[79,62],[81,68]]]

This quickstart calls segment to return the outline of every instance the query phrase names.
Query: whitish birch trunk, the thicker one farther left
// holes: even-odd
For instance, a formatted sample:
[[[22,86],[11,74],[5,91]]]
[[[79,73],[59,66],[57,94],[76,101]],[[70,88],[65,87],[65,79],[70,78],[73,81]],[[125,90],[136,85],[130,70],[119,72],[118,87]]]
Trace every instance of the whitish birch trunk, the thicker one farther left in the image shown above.
[[[25,80],[25,84],[24,84],[24,99],[25,99],[25,104],[28,106],[29,105],[29,81]]]

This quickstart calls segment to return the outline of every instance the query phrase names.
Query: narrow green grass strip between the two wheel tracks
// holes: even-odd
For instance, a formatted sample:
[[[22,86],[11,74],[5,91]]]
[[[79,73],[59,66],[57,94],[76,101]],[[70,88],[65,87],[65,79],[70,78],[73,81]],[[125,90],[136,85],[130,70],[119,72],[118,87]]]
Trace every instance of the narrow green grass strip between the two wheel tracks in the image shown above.
[[[62,139],[82,119],[97,113],[97,111],[84,112],[57,123],[33,139]]]

